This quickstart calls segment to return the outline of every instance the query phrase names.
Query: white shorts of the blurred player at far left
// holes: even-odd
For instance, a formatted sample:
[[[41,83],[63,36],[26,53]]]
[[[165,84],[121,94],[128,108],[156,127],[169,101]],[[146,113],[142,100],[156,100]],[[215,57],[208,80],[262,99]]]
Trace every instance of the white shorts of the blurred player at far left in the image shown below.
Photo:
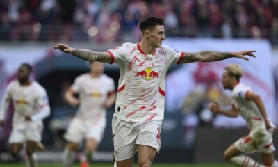
[[[38,122],[22,122],[13,124],[10,133],[9,143],[24,143],[26,141],[42,140],[42,121]]]

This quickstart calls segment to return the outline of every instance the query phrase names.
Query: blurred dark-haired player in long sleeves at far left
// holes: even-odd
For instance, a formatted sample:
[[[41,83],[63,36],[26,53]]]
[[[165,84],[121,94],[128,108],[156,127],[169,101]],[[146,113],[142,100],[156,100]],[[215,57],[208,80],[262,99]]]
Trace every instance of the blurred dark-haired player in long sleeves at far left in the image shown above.
[[[50,108],[47,93],[36,81],[31,81],[31,65],[23,63],[17,71],[17,79],[8,84],[0,108],[0,125],[4,125],[4,117],[10,101],[13,104],[12,132],[9,138],[10,153],[13,158],[19,157],[22,145],[26,143],[26,164],[37,166],[34,151],[44,146],[42,139],[42,120],[49,116]]]

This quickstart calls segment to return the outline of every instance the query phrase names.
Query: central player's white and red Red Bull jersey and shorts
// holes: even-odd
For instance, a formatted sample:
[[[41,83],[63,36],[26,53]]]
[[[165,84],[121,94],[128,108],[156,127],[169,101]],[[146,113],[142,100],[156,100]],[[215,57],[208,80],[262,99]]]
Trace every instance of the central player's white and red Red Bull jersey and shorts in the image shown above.
[[[138,144],[149,145],[158,152],[165,74],[171,64],[182,61],[184,53],[163,45],[152,54],[145,54],[139,43],[124,43],[107,52],[121,73],[113,118],[115,159],[132,157]]]

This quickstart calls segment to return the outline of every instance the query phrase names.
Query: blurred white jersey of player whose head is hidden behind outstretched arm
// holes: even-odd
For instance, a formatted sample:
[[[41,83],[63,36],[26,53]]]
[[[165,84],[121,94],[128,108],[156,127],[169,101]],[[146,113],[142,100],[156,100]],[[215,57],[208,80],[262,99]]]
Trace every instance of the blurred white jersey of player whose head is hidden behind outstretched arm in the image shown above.
[[[115,85],[113,79],[106,74],[92,77],[88,73],[77,77],[70,90],[79,94],[80,104],[76,116],[83,120],[92,120],[106,116],[103,105],[108,93],[115,91]]]

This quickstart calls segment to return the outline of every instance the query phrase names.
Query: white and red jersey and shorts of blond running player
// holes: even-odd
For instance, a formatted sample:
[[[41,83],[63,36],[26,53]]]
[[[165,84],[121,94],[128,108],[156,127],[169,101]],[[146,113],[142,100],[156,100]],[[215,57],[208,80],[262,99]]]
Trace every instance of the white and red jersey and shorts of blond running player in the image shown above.
[[[237,84],[232,91],[232,102],[240,115],[247,122],[250,133],[238,139],[235,145],[244,153],[270,153],[275,151],[272,143],[272,132],[265,128],[265,121],[259,107],[255,102],[247,100],[247,95],[252,90],[245,84]]]

